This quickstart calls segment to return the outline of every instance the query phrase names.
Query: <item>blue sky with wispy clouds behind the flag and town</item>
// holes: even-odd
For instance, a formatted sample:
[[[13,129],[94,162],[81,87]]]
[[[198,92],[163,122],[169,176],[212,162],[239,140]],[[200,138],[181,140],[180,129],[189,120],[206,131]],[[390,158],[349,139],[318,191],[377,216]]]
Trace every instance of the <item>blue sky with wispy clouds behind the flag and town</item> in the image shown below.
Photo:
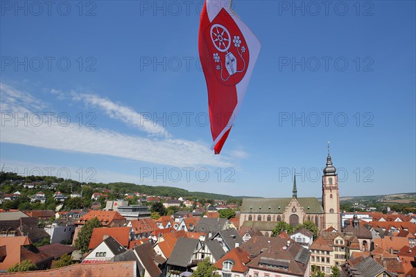
[[[415,1],[234,0],[261,52],[220,155],[202,3],[1,1],[1,166],[261,197],[297,168],[320,197],[331,141],[341,196],[416,191]]]

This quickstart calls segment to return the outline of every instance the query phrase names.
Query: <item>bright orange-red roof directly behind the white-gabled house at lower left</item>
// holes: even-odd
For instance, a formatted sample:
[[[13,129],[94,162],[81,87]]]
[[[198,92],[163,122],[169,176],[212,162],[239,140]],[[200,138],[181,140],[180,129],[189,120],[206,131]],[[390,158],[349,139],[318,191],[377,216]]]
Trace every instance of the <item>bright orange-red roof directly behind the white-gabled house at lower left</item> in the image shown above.
[[[94,228],[88,248],[96,248],[108,236],[112,236],[123,247],[128,247],[130,227]]]

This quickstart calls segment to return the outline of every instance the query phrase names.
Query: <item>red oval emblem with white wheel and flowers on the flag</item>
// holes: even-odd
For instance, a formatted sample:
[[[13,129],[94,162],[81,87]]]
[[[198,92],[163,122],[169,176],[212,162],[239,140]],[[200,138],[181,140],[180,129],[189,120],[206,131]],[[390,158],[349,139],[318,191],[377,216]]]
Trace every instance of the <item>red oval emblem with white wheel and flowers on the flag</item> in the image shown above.
[[[223,8],[205,29],[204,39],[218,81],[227,86],[241,82],[250,55],[239,26],[227,10]]]

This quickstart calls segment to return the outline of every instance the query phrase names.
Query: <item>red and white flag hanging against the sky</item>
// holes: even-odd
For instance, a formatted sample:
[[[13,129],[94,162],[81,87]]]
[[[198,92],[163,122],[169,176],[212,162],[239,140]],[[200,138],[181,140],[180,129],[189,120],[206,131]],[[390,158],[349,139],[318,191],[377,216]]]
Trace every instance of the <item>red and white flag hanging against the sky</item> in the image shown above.
[[[200,17],[199,55],[207,80],[209,120],[219,154],[248,87],[260,42],[231,9],[229,0],[205,0]]]

